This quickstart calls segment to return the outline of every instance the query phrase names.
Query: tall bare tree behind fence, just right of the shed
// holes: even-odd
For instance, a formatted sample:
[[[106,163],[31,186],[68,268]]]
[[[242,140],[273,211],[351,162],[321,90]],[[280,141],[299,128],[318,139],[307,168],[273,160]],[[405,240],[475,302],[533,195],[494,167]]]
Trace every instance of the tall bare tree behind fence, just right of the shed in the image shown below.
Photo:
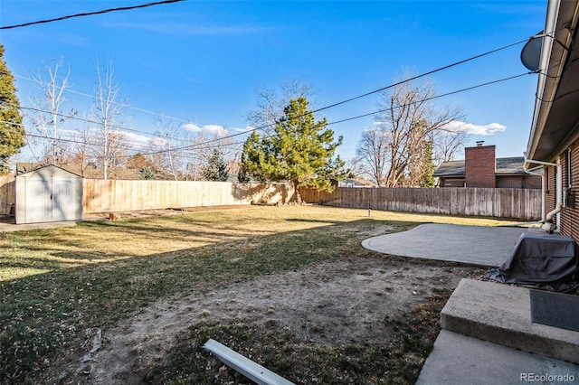
[[[118,168],[127,154],[125,135],[118,127],[126,124],[128,119],[123,119],[123,107],[126,102],[119,100],[119,84],[114,80],[112,61],[107,62],[104,72],[99,64],[96,66],[97,83],[93,88],[94,104],[91,114],[97,122],[97,127],[92,133],[92,155],[102,166],[103,179]]]

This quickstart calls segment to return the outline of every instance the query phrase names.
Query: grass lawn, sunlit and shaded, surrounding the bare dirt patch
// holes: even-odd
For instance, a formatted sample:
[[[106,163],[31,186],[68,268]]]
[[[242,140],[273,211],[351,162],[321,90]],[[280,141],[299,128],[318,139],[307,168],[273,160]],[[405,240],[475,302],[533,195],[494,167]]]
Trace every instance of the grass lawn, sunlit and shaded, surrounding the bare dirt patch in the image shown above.
[[[282,206],[81,222],[71,228],[2,233],[0,382],[37,382],[58,357],[83,341],[87,328],[117,325],[161,298],[295,271],[344,255],[368,256],[373,253],[359,245],[365,231],[384,223],[396,230],[407,230],[422,222],[490,226],[502,223],[383,211],[372,211],[368,217],[364,210]],[[296,237],[299,249],[295,247]],[[394,329],[402,331],[401,335],[406,335],[400,338],[398,347],[363,352],[359,346],[301,346],[298,355],[290,354],[297,357],[292,363],[284,362],[283,355],[267,352],[271,344],[262,343],[261,354],[269,357],[266,361],[274,371],[300,363],[325,367],[328,373],[322,376],[322,382],[325,378],[327,383],[351,383],[348,379],[354,377],[340,371],[367,370],[369,374],[362,373],[355,379],[356,383],[364,383],[370,378],[367,376],[384,371],[369,364],[376,361],[376,356],[403,356],[407,353],[403,346],[410,351],[426,349],[416,336],[438,316],[444,296],[448,293],[433,297],[430,305],[414,309],[412,319],[389,321],[394,323]],[[224,334],[230,335],[223,337],[225,340],[238,341],[240,346],[242,341],[256,338],[283,345],[281,342],[290,338],[288,331],[269,326],[263,329],[263,325],[233,322],[196,327],[176,344],[174,354],[166,362],[151,369],[148,380],[169,383],[211,380],[213,374],[204,363],[183,362],[184,357],[209,360],[208,354],[195,347],[196,343],[208,335]],[[295,344],[284,346],[298,349]],[[328,365],[329,356],[335,357],[330,361],[336,367]],[[416,370],[413,368],[400,378],[411,381]],[[392,378],[398,378],[401,374],[396,371],[409,370],[397,363],[387,371],[393,372]]]

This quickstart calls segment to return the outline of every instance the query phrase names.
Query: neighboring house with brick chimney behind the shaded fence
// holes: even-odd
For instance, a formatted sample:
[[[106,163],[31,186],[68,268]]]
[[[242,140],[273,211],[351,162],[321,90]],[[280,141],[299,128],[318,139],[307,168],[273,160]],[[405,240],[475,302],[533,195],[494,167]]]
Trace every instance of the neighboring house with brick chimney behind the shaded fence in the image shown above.
[[[464,149],[464,160],[442,163],[433,176],[439,178],[440,187],[482,187],[540,189],[541,177],[527,174],[525,157],[495,157],[495,146]]]

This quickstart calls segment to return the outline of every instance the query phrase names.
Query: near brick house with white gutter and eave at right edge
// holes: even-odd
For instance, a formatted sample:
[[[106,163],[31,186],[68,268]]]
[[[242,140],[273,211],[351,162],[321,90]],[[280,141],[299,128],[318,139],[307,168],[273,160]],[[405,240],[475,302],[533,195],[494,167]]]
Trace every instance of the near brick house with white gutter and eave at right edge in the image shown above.
[[[527,142],[527,169],[545,178],[543,217],[561,202],[560,232],[579,240],[579,0],[549,2],[539,60],[535,112]]]

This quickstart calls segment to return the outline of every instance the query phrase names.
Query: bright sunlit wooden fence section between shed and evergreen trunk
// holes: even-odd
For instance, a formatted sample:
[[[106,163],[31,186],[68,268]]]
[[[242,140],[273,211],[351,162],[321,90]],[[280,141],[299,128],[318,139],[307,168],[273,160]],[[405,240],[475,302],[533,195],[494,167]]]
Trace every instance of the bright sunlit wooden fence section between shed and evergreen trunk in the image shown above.
[[[85,213],[139,211],[287,202],[292,192],[287,184],[85,179],[82,204]]]

